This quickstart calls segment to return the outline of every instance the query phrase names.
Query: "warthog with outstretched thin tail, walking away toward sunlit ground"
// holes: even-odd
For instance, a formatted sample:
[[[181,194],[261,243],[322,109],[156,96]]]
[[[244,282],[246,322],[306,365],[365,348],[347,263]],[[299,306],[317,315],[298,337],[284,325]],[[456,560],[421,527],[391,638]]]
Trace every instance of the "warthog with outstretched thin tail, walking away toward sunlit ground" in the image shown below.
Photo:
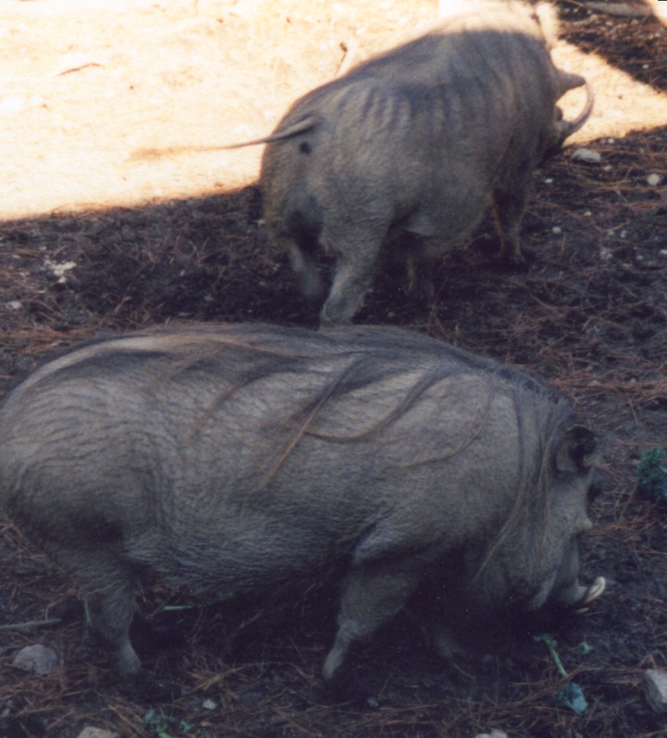
[[[303,294],[320,299],[318,254],[335,258],[320,325],[350,323],[380,261],[407,261],[409,294],[429,303],[436,256],[465,242],[488,204],[500,257],[524,261],[531,173],[584,125],[592,92],[553,65],[550,6],[468,5],[309,92],[269,137],[236,145],[267,144],[263,218]],[[556,101],[584,84],[584,108],[564,120]]]

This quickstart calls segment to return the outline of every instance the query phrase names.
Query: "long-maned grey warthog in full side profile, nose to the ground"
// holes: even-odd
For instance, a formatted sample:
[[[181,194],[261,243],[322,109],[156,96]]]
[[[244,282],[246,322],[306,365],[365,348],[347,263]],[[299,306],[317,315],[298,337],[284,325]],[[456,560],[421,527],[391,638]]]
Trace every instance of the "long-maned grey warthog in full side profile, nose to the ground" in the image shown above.
[[[259,598],[331,582],[328,684],[417,587],[446,604],[440,630],[470,608],[586,604],[604,589],[578,579],[597,456],[538,379],[379,326],[126,334],[0,406],[0,506],[138,688],[129,629],[153,582]]]

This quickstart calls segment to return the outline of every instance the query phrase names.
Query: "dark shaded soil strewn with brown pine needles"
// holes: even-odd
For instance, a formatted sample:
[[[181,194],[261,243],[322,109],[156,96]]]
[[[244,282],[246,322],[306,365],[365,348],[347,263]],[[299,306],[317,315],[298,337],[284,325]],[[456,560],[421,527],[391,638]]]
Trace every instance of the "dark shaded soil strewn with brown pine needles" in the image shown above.
[[[570,41],[667,89],[667,41],[656,21],[589,17],[579,5],[562,4]],[[667,125],[589,146],[601,165],[566,152],[536,175],[522,229],[528,269],[497,267],[485,222],[466,249],[441,259],[430,310],[409,303],[398,272],[379,277],[357,317],[541,373],[604,438],[582,576],[604,575],[608,589],[586,613],[550,624],[567,677],[531,638],[534,627],[518,624],[485,645],[483,658],[444,666],[411,611],[359,653],[353,697],[331,703],[319,669],[333,637],[335,593],[263,609],[233,600],[190,608],[178,593],[155,589],[140,605],[170,629],[170,645],[142,656],[178,693],[147,705],[123,691],[87,634],[69,579],[4,522],[0,625],[61,622],[0,630],[0,734],[69,738],[95,725],[123,737],[173,738],[472,738],[491,728],[511,738],[663,735],[667,718],[647,705],[641,678],[667,669],[667,507],[635,488],[642,453],[667,445],[667,193],[664,182],[647,183],[667,173]],[[175,320],[315,327],[317,306],[297,293],[260,218],[258,190],[247,187],[4,221],[0,389],[54,351],[129,328]],[[165,612],[165,604],[187,609]],[[56,675],[10,666],[21,646],[36,642],[61,657]],[[592,651],[584,655],[582,644]],[[589,703],[581,716],[554,700],[569,681]]]

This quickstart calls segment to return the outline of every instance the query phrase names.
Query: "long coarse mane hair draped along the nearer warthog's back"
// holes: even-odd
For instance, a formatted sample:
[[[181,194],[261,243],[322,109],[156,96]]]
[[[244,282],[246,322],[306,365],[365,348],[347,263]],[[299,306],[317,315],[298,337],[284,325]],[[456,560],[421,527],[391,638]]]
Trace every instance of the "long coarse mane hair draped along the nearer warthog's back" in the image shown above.
[[[516,417],[519,484],[507,520],[500,528],[477,576],[483,573],[503,542],[530,514],[547,526],[548,480],[553,474],[554,444],[564,428],[575,422],[570,402],[529,373],[492,362],[460,348],[438,342],[416,331],[394,328],[350,328],[308,331],[274,325],[190,326],[153,329],[101,339],[61,356],[29,377],[15,390],[60,379],[117,376],[125,370],[141,370],[137,390],[153,394],[160,387],[188,386],[202,376],[219,389],[201,411],[192,438],[212,415],[237,393],[252,392],[255,383],[278,376],[303,378],[308,392],[300,393],[286,416],[277,418],[280,430],[277,452],[268,458],[260,493],[306,436],[341,444],[354,444],[377,435],[424,399],[438,382],[466,373],[484,377],[485,396],[471,413],[471,423],[454,448],[439,455],[410,458],[407,466],[439,463],[463,452],[482,432],[497,393],[511,397]],[[387,404],[383,383],[400,379],[400,391]],[[375,387],[377,386],[377,390]],[[397,383],[394,383],[394,387]],[[372,400],[381,393],[383,412],[359,430],[334,434],[322,430],[320,419],[336,401],[357,391]],[[12,401],[13,393],[7,398]],[[380,394],[378,395],[380,396]],[[15,409],[21,407],[19,396]],[[528,418],[528,421],[525,420]],[[537,420],[536,420],[537,418]]]

